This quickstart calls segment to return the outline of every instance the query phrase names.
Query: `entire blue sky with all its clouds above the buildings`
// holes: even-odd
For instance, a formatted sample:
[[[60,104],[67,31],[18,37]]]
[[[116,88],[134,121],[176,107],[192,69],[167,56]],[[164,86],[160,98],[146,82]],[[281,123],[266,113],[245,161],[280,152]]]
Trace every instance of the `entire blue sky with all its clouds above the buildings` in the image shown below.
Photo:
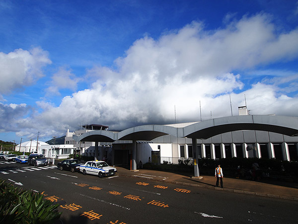
[[[0,0],[0,140],[297,116],[297,0]],[[36,138],[34,135],[33,138]]]

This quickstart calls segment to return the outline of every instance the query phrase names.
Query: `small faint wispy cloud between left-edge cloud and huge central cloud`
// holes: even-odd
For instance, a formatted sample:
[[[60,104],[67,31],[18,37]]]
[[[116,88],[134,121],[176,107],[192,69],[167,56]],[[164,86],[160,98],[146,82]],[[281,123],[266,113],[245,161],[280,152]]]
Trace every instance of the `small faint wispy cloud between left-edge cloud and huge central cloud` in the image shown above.
[[[50,86],[46,89],[46,96],[60,95],[60,89],[76,90],[77,82],[80,79],[75,77],[71,70],[59,68],[59,71],[52,76]]]

